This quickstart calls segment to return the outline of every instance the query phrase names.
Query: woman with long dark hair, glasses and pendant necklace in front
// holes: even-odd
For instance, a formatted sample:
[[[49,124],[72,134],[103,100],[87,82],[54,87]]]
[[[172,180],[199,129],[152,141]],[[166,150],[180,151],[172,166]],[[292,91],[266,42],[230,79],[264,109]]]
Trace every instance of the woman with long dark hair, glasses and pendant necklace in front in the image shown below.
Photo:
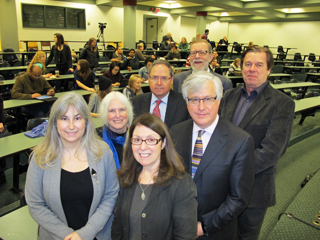
[[[118,177],[112,239],[196,239],[196,186],[160,118],[133,121]]]

